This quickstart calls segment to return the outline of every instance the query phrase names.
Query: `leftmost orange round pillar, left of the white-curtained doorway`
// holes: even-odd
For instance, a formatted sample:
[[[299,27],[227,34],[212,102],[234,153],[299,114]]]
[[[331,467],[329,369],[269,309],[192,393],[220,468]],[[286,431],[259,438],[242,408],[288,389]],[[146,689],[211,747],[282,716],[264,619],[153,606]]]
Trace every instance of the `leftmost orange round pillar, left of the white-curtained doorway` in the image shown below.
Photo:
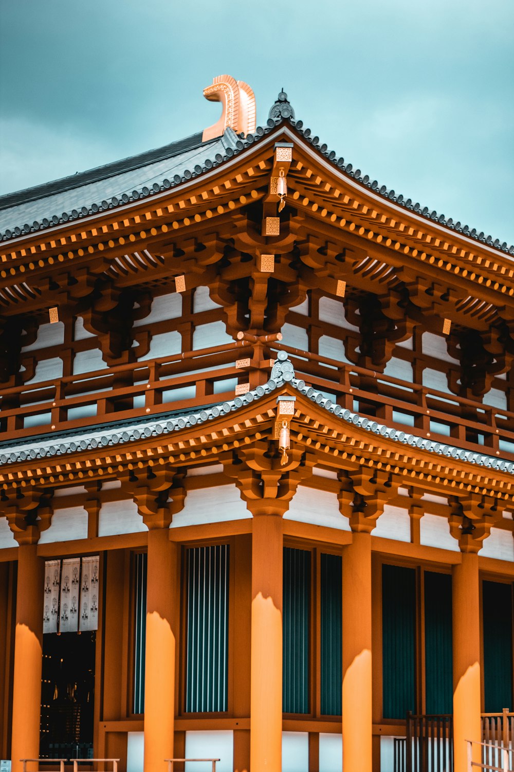
[[[15,664],[12,688],[12,772],[39,758],[45,562],[37,544],[18,547]]]

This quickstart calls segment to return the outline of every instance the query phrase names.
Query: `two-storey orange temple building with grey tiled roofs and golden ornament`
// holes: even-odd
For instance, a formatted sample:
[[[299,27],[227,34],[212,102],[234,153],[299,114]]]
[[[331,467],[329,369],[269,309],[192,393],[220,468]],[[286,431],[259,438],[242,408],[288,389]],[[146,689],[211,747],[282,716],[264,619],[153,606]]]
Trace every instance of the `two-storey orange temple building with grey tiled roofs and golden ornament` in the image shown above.
[[[514,248],[203,93],[0,197],[0,759],[501,768]]]

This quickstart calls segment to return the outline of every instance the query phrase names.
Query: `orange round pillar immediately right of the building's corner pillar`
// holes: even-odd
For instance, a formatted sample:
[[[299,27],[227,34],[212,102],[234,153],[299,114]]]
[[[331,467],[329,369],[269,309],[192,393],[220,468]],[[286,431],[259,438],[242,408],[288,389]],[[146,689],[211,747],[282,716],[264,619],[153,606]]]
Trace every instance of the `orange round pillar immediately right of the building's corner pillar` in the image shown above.
[[[343,550],[343,769],[371,772],[371,536]]]

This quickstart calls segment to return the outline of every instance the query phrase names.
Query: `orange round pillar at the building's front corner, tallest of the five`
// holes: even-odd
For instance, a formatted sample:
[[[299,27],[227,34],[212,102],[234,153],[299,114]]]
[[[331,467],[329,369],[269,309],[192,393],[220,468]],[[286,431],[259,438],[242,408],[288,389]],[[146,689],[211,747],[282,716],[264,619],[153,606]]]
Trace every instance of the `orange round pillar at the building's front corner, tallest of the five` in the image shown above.
[[[250,769],[282,768],[282,560],[278,515],[254,515],[252,531]]]

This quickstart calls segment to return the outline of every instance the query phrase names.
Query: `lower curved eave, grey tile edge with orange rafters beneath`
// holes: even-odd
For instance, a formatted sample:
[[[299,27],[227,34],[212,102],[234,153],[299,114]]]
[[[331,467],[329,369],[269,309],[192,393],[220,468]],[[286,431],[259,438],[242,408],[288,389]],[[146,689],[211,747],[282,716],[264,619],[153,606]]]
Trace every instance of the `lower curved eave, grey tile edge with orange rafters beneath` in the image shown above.
[[[197,413],[177,414],[168,422],[148,420],[125,431],[104,428],[102,432],[90,430],[87,435],[77,432],[59,445],[51,440],[27,440],[8,449],[8,453],[0,450],[0,485],[8,489],[13,483],[15,487],[69,485],[83,478],[109,479],[120,471],[119,465],[131,468],[129,462],[142,462],[143,466],[214,462],[222,452],[270,438],[277,397],[288,395],[295,398],[293,444],[300,443],[316,452],[324,466],[376,466],[391,471],[405,485],[445,490],[455,496],[482,493],[501,500],[504,509],[512,509],[514,462],[371,422],[334,405],[303,381],[284,381],[280,373],[275,377],[275,381],[268,381],[244,397]]]

